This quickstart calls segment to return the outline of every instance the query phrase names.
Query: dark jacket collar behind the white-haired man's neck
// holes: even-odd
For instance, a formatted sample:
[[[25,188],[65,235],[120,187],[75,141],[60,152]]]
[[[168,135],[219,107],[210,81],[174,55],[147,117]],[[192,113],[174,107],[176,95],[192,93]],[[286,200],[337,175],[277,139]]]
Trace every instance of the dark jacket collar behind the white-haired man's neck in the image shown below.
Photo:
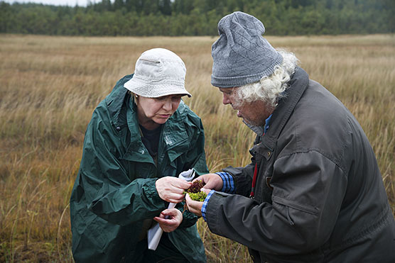
[[[291,116],[293,109],[301,99],[308,86],[309,78],[307,72],[301,67],[297,67],[290,80],[290,86],[286,89],[286,96],[279,101],[278,106],[271,116],[271,124],[267,133],[262,138],[261,143],[270,151],[274,150],[276,140]]]

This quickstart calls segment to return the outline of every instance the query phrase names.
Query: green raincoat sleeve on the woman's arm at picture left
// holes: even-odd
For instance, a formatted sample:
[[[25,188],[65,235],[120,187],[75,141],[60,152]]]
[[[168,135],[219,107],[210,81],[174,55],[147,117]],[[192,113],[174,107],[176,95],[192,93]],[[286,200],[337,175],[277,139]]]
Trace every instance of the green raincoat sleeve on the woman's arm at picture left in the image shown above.
[[[119,161],[119,142],[106,111],[95,110],[85,133],[80,185],[87,207],[110,223],[127,225],[153,218],[166,209],[156,191],[156,178],[130,181]]]

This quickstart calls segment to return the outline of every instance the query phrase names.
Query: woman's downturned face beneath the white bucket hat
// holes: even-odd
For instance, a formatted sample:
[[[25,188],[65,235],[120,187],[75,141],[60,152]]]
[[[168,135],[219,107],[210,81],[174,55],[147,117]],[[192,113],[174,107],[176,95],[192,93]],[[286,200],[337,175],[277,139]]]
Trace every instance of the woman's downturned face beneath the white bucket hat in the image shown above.
[[[137,105],[137,116],[140,125],[147,130],[158,128],[166,123],[180,105],[183,95],[168,95],[159,98],[146,98],[137,96],[134,101]]]

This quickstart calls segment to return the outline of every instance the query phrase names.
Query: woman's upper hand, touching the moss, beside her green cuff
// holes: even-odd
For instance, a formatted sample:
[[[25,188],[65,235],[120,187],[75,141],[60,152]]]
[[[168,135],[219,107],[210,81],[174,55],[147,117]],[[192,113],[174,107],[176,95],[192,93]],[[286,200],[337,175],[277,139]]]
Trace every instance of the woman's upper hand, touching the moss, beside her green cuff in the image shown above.
[[[162,177],[156,180],[155,186],[159,197],[169,203],[180,203],[184,199],[184,191],[192,183],[177,177]]]

